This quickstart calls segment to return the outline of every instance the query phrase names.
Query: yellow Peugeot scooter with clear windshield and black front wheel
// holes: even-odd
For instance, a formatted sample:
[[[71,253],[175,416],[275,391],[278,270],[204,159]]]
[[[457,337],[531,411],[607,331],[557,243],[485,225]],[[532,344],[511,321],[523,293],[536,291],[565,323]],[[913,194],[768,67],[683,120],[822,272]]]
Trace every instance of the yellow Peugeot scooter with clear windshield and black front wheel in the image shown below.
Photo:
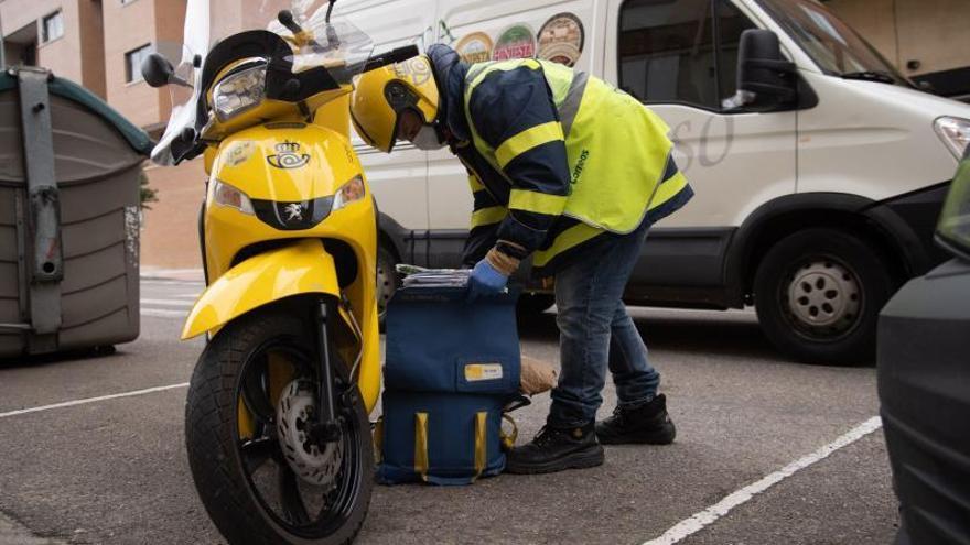
[[[366,34],[331,22],[333,0],[312,3],[257,9],[244,18],[257,29],[226,32],[193,0],[179,58],[142,65],[173,91],[152,159],[203,155],[209,175],[207,288],[182,333],[208,342],[185,438],[196,490],[234,544],[345,543],[373,487],[377,225],[348,92],[355,75],[418,51],[373,56]]]

